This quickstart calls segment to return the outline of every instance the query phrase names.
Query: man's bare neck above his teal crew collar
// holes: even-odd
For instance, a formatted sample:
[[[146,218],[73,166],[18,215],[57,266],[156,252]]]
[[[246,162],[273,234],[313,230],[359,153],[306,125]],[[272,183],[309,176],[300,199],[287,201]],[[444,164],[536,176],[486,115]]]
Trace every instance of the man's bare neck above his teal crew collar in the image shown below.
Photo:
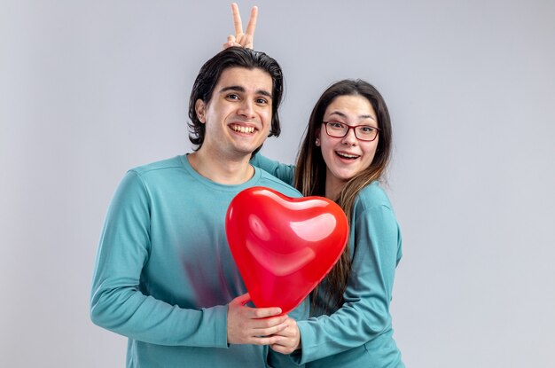
[[[196,172],[218,184],[243,184],[254,175],[254,168],[248,163],[250,155],[230,159],[207,154],[200,148],[187,159]]]

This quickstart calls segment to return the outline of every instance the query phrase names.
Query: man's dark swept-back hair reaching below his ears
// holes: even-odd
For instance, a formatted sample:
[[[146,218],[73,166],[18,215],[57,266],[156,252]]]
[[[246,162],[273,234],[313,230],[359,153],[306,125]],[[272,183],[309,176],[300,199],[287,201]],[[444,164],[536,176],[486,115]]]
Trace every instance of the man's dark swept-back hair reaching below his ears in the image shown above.
[[[277,108],[281,104],[284,90],[284,77],[281,67],[279,67],[275,59],[270,58],[264,52],[242,47],[230,47],[209,59],[200,68],[199,75],[197,75],[197,79],[192,85],[191,98],[189,99],[189,118],[191,119],[189,123],[189,139],[193,145],[197,145],[195,151],[199,150],[202,146],[205,137],[205,124],[199,121],[195,104],[199,98],[205,105],[210,102],[212,92],[220,79],[220,75],[229,67],[258,68],[270,74],[272,79],[272,119],[268,137],[278,137],[281,132],[279,114],[277,114]],[[254,153],[258,152],[260,148],[258,147]]]

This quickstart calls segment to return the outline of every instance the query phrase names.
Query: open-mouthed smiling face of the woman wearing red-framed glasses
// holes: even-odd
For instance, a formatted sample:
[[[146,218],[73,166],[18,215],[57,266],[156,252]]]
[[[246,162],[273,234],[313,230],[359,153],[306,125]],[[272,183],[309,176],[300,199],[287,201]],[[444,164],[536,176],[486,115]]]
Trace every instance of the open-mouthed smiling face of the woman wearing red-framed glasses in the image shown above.
[[[335,98],[325,109],[324,121],[338,122],[349,127],[366,125],[379,128],[378,117],[370,101],[360,95]],[[329,185],[339,188],[368,168],[379,141],[379,135],[373,141],[362,141],[356,138],[355,129],[348,129],[345,137],[330,137],[326,133],[325,123],[317,132],[317,137],[327,167],[326,192]]]

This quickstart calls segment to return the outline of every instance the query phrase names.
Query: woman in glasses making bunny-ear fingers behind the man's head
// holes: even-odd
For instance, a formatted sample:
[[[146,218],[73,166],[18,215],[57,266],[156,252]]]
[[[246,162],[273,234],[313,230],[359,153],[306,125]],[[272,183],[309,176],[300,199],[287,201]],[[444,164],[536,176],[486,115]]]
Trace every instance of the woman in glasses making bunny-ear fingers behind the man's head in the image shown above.
[[[252,45],[256,13],[245,35],[233,8],[236,34],[224,46]],[[387,106],[368,82],[335,82],[318,99],[296,167],[256,154],[251,161],[305,196],[335,200],[348,216],[348,245],[310,295],[311,317],[292,322],[271,348],[307,367],[404,367],[393,339],[389,304],[401,234],[380,188],[392,147]],[[298,338],[300,335],[300,339]]]

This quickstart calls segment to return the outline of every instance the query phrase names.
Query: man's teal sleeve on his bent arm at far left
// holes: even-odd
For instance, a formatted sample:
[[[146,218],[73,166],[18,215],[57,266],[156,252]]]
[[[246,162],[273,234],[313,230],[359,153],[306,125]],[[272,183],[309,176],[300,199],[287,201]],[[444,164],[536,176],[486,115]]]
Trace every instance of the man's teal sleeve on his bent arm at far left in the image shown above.
[[[160,345],[227,347],[227,307],[183,309],[141,291],[151,253],[151,201],[141,178],[124,177],[106,215],[90,317],[115,333]]]

